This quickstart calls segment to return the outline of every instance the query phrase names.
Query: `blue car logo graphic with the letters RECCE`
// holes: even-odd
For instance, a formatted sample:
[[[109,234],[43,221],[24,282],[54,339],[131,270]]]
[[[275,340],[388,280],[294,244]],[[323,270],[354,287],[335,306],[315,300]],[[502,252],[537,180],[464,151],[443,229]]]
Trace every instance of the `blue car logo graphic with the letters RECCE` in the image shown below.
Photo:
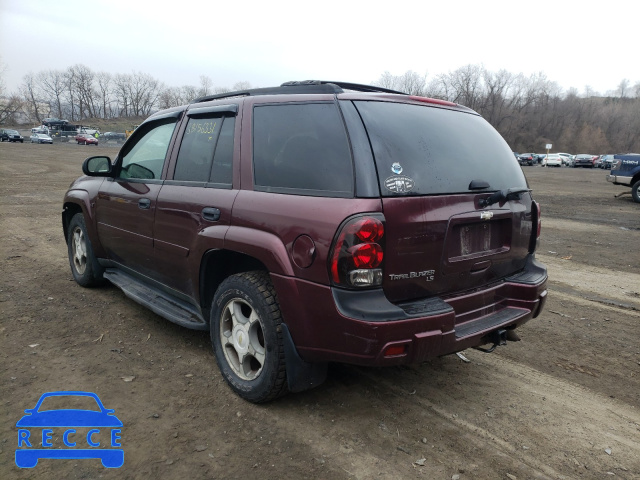
[[[92,409],[47,409],[43,402],[81,403]],[[106,468],[124,464],[120,444],[122,422],[91,392],[49,392],[18,420],[16,465],[33,468],[41,458],[99,458]],[[60,447],[60,448],[58,448]]]

